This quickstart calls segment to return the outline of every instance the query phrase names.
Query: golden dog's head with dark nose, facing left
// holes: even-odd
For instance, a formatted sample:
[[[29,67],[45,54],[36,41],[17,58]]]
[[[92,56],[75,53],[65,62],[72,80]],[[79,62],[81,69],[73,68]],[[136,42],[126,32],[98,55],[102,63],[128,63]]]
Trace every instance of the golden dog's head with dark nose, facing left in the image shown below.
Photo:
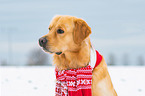
[[[67,51],[77,51],[82,42],[91,33],[87,23],[73,16],[55,16],[49,33],[39,39],[39,44],[46,52],[60,55]]]

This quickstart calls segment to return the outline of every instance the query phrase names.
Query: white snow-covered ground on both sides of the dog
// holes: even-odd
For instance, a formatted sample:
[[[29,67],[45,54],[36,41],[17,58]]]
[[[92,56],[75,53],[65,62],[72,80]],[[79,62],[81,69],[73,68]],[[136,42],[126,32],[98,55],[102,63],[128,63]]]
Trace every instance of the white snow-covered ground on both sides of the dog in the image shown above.
[[[108,67],[118,96],[145,96],[145,67]],[[0,67],[0,96],[54,96],[54,67]]]

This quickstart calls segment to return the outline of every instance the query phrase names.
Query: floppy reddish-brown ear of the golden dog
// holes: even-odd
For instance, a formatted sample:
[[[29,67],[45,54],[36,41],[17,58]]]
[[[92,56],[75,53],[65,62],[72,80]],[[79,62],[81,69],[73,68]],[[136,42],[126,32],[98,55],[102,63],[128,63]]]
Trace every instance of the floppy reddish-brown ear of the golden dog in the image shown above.
[[[76,44],[80,44],[85,38],[91,34],[91,28],[82,19],[76,19],[74,21],[75,28],[73,32],[73,39]]]

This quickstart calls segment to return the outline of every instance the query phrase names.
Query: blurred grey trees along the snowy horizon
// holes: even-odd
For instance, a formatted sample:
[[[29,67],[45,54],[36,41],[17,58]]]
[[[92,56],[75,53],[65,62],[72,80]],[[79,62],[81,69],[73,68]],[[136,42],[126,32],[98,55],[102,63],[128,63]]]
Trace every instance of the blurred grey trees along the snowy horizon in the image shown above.
[[[30,50],[29,54],[28,54],[28,59],[26,62],[26,66],[52,66],[52,58],[48,55],[48,53],[45,53],[44,51],[42,51],[42,49],[40,48],[34,48],[32,50]],[[145,60],[143,58],[142,55],[138,56],[136,58],[137,60],[137,65],[138,66],[145,66]],[[109,54],[108,55],[108,61],[107,64],[110,66],[116,66],[116,56],[114,54]],[[1,66],[10,66],[9,64],[7,64],[7,62],[5,60],[1,61]],[[130,66],[130,62],[129,62],[129,55],[128,54],[124,54],[122,56],[122,64],[124,66]]]

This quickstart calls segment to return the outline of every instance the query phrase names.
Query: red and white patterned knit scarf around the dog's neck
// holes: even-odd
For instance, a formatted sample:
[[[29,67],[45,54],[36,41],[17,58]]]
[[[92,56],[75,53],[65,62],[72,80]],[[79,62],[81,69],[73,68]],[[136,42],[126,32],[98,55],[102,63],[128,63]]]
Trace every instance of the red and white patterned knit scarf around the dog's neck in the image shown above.
[[[102,60],[102,56],[97,51],[96,58],[95,67]],[[57,79],[55,96],[92,96],[92,70],[90,65],[62,71],[55,69]]]

